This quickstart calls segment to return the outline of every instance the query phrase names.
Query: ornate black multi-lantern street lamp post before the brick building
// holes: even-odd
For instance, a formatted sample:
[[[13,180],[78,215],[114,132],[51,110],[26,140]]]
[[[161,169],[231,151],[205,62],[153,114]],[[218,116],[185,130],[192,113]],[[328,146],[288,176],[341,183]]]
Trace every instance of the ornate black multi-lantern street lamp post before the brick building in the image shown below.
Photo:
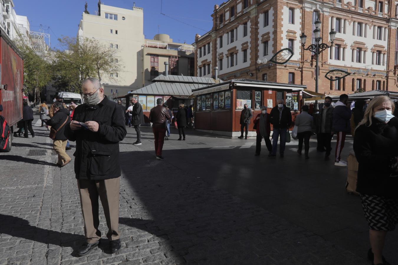
[[[334,39],[336,38],[336,31],[334,29],[332,29],[332,31],[330,31],[329,35],[330,35],[330,45],[326,44],[326,43],[321,43],[322,41],[322,37],[320,37],[321,35],[321,21],[320,19],[316,19],[315,21],[315,29],[314,29],[314,35],[315,35],[315,44],[311,44],[309,45],[307,48],[305,48],[305,42],[307,39],[307,36],[303,33],[301,33],[300,35],[300,39],[301,39],[301,46],[304,50],[310,50],[311,52],[313,52],[316,56],[316,70],[315,70],[315,92],[318,93],[318,79],[319,79],[319,55],[324,51],[327,50],[328,48],[332,48],[333,46],[333,42]],[[315,110],[318,109],[318,101],[315,101]]]

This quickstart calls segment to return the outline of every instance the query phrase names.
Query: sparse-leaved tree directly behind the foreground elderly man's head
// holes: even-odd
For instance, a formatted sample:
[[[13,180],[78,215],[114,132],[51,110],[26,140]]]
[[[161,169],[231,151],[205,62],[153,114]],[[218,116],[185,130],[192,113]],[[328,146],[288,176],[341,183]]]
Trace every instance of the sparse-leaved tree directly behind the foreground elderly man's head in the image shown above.
[[[82,81],[88,77],[113,80],[111,73],[121,70],[117,49],[95,39],[64,37],[59,39],[65,50],[56,50],[53,61],[54,86],[60,91],[81,92]]]

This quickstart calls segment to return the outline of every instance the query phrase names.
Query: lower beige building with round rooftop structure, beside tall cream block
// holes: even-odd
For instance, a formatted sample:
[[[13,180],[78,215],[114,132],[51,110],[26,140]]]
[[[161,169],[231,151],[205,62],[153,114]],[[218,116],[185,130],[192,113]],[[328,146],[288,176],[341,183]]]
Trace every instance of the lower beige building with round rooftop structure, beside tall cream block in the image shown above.
[[[195,76],[194,47],[191,44],[175,43],[167,34],[156,34],[153,39],[145,39],[141,58],[143,87],[164,73],[165,62],[169,64],[169,75]]]

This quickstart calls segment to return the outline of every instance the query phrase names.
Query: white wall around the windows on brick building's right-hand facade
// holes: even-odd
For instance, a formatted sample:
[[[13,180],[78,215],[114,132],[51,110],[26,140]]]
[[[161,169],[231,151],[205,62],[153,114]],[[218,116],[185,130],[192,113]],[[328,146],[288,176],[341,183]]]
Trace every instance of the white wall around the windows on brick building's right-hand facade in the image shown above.
[[[336,19],[334,19],[334,23],[336,23]],[[329,19],[330,23],[330,19]],[[343,24],[343,19],[341,21],[341,24]],[[353,27],[355,25],[355,35],[353,35]],[[383,63],[381,65],[377,64],[372,64],[372,52],[371,49],[373,48],[373,45],[375,44],[380,44],[383,45],[387,48],[388,46],[388,30],[386,30],[386,36],[384,38],[384,29],[382,30],[382,40],[377,39],[377,35],[375,36],[375,39],[373,39],[373,26],[371,29],[369,29],[369,25],[366,25],[367,29],[367,37],[365,38],[365,24],[362,26],[362,37],[357,36],[357,23],[353,23],[351,21],[351,25],[349,25],[348,21],[346,22],[346,31],[344,34],[343,27],[341,28],[341,33],[336,34],[336,38],[343,39],[345,41],[345,44],[347,44],[347,48],[345,49],[345,60],[343,61],[343,48],[340,49],[340,60],[334,60],[334,48],[333,48],[333,59],[328,59],[328,62],[330,64],[336,64],[339,66],[352,66],[352,67],[357,67],[357,68],[368,68],[368,69],[375,69],[375,70],[386,70],[386,60],[387,56],[384,58],[384,66]],[[384,41],[384,39],[386,41]],[[330,41],[328,37],[328,41]],[[365,63],[363,63],[363,51],[361,54],[361,63],[356,62],[356,54],[354,55],[354,62],[352,62],[352,50],[351,50],[351,45],[353,44],[354,41],[360,41],[363,43],[366,43],[366,46],[368,48],[366,55],[365,55]],[[330,58],[330,51],[328,50],[328,58]]]

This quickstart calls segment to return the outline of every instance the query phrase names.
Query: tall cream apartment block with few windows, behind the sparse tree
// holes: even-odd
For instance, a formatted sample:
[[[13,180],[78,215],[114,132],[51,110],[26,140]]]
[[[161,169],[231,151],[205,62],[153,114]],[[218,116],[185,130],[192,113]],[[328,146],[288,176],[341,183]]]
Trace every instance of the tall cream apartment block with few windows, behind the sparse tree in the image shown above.
[[[115,62],[122,71],[104,76],[101,80],[105,95],[125,95],[142,87],[141,46],[144,44],[144,10],[131,10],[100,4],[96,14],[82,14],[78,38],[94,38],[119,52]]]

